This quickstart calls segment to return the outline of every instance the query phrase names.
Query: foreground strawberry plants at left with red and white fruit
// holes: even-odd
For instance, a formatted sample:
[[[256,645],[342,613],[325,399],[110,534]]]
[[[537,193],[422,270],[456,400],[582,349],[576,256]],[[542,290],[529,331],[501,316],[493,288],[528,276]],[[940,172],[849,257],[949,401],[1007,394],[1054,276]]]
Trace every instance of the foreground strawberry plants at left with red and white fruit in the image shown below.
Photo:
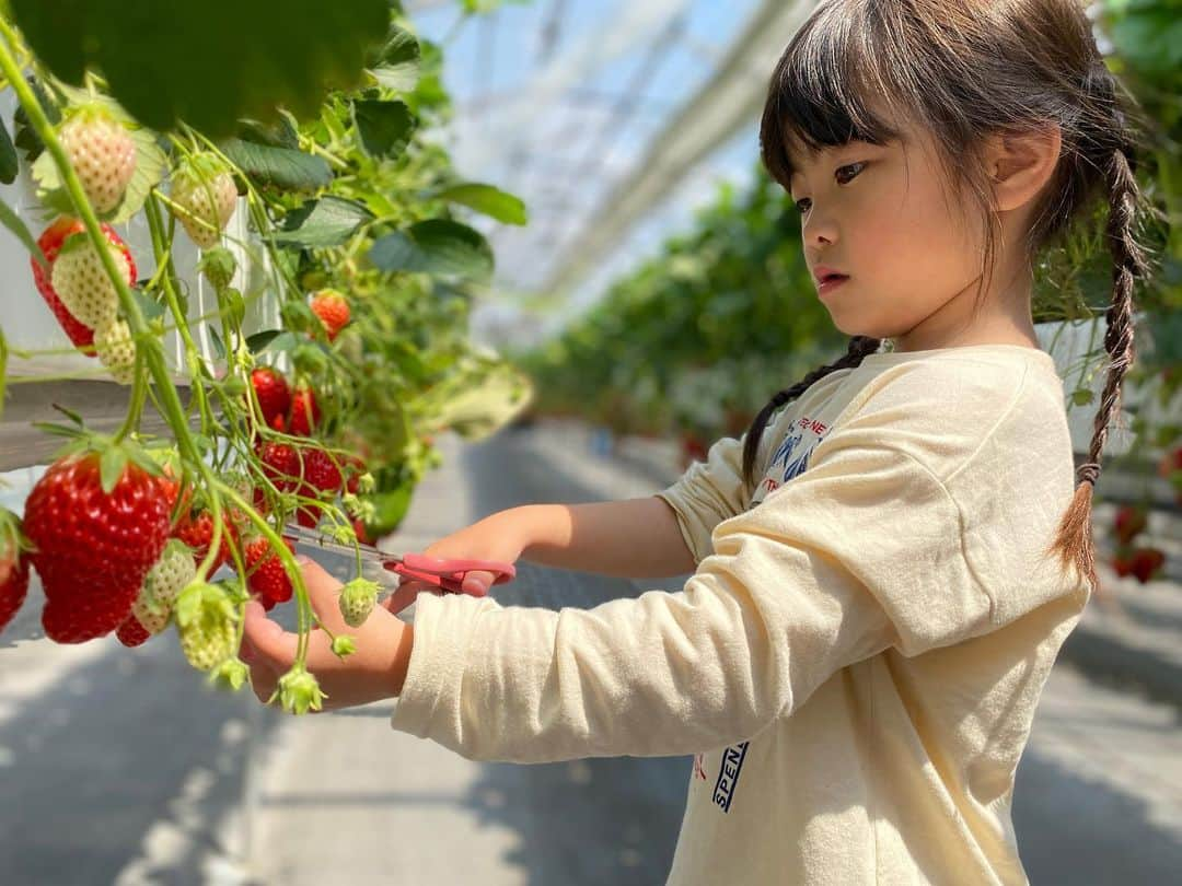
[[[27,165],[45,210],[39,235],[6,206],[0,220],[28,247],[72,350],[131,396],[113,435],[69,410],[41,425],[67,448],[22,520],[0,513],[0,628],[32,565],[50,639],[113,632],[135,646],[175,626],[190,663],[236,690],[246,601],[294,601],[300,647],[277,697],[288,711],[317,709],[304,657],[309,632],[325,628],[284,528],[372,541],[439,463],[435,435],[483,436],[525,406],[527,379],[468,339],[494,260],[463,222],[482,213],[524,224],[525,208],[461,181],[431,143],[450,113],[442,52],[397,4],[300,0],[275,28],[269,4],[236,0],[219,18],[207,7],[228,4],[215,0],[150,34],[117,27],[117,5],[103,0],[71,5],[74,27],[60,28],[59,6],[0,6],[0,74],[19,104],[13,136],[0,131],[0,180]],[[217,26],[228,20],[236,26]],[[240,240],[228,229],[236,213]],[[112,227],[141,215],[150,255]],[[217,310],[199,318],[196,280],[174,255],[187,241],[216,293]],[[259,305],[280,323],[247,334]],[[202,325],[212,357],[196,344]],[[174,331],[176,367],[161,346]],[[0,379],[27,382],[9,366],[45,353],[4,343],[0,328]],[[143,432],[149,405],[167,435]],[[349,624],[376,602],[359,558],[357,571],[343,594]],[[353,650],[331,639],[342,657]]]

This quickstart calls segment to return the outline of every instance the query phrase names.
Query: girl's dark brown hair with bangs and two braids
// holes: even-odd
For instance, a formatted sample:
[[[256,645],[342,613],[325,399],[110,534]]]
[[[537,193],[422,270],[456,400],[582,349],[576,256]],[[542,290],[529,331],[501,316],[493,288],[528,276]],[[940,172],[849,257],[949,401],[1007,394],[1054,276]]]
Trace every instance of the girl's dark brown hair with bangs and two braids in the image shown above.
[[[1078,567],[1095,588],[1092,490],[1135,357],[1134,280],[1148,273],[1135,235],[1141,198],[1134,177],[1137,105],[1104,64],[1079,0],[829,0],[793,35],[772,74],[760,128],[764,165],[788,190],[790,143],[816,151],[855,139],[884,144],[896,137],[889,123],[871,112],[875,98],[896,118],[931,133],[949,181],[972,194],[986,216],[994,208],[980,154],[986,136],[1059,125],[1058,167],[1025,243],[1032,262],[1072,220],[1086,216],[1097,198],[1108,201],[1106,241],[1115,268],[1104,338],[1108,379],[1087,462],[1077,470],[1079,486],[1048,548],[1065,567]],[[995,226],[986,230],[987,276],[998,242]],[[830,372],[858,366],[881,344],[853,337],[844,357],[780,391],[760,410],[743,445],[748,486],[772,415]]]

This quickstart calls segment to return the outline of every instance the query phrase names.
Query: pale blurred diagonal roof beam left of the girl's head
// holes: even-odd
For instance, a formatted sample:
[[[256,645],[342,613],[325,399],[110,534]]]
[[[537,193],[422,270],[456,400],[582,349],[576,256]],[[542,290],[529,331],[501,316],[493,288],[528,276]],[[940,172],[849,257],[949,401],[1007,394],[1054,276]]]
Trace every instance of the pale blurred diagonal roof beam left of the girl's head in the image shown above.
[[[567,292],[603,263],[641,219],[743,125],[759,118],[769,72],[818,0],[765,0],[730,45],[719,73],[651,141],[644,158],[612,189],[563,250],[541,292]]]

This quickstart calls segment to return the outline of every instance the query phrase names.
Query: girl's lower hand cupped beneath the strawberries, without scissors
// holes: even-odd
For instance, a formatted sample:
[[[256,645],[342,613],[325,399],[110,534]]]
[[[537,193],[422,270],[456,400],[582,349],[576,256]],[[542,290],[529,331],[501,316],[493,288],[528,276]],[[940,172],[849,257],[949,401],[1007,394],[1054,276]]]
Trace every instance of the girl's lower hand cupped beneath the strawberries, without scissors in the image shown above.
[[[413,627],[379,606],[374,607],[361,627],[349,627],[337,604],[340,582],[319,563],[306,558],[299,561],[317,617],[333,636],[348,634],[357,646],[356,652],[342,660],[333,653],[325,631],[317,627],[309,634],[305,665],[324,692],[323,709],[349,708],[397,696],[410,663]],[[240,657],[249,665],[251,686],[264,704],[294,663],[298,641],[298,634],[267,618],[261,604],[252,600],[246,605]]]

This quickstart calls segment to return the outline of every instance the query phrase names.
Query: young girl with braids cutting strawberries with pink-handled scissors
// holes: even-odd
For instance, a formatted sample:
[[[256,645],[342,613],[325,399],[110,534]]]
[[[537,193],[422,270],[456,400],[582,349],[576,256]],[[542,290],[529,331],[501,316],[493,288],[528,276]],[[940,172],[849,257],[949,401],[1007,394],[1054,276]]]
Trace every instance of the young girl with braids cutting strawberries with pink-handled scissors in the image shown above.
[[[329,705],[398,696],[395,729],[474,760],[694,754],[671,884],[1026,882],[1014,773],[1097,584],[1144,273],[1125,103],[1077,0],[818,6],[761,146],[849,352],[656,496],[513,508],[427,552],[693,576],[560,612],[421,594],[413,626],[403,587],[344,663],[313,641]],[[1077,487],[1032,263],[1096,197],[1111,364]],[[296,638],[253,604],[246,636],[266,699]]]

